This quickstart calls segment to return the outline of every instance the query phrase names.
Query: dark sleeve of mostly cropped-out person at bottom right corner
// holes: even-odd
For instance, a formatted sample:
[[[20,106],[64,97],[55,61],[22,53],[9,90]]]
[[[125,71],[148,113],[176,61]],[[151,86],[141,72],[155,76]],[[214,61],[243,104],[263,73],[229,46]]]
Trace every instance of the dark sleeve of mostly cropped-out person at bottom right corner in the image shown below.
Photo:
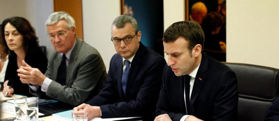
[[[279,95],[274,100],[274,103],[267,110],[265,121],[279,121]]]

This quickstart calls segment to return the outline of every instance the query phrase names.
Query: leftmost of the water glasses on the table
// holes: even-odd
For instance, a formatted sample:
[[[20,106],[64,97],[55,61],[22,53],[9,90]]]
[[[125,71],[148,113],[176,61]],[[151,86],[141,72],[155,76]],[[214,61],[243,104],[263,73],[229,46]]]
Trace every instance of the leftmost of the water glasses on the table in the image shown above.
[[[16,113],[16,120],[15,121],[26,121],[28,120],[27,116],[27,103],[26,97],[17,97],[14,99],[15,101],[15,113]]]

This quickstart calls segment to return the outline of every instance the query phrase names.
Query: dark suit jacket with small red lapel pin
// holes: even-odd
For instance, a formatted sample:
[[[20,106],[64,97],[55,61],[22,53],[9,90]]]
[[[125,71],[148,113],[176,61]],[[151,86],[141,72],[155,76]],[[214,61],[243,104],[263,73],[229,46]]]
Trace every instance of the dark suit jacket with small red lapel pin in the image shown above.
[[[156,116],[167,113],[174,121],[186,115],[184,76],[165,66]],[[190,99],[191,115],[205,121],[237,120],[237,79],[223,63],[202,54]]]

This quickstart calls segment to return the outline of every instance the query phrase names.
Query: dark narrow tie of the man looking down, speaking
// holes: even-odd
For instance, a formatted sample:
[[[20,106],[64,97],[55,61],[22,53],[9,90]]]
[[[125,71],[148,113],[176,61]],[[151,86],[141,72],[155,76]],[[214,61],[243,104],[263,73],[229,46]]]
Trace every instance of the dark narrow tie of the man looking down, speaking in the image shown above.
[[[186,109],[187,109],[187,115],[191,115],[190,111],[190,78],[191,76],[189,75],[184,75],[184,80],[185,80],[185,101],[186,101]]]

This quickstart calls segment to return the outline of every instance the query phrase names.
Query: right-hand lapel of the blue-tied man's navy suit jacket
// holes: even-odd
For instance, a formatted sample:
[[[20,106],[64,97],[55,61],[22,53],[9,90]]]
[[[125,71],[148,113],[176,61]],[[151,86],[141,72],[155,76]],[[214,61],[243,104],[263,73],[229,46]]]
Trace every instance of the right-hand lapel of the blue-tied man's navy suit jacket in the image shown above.
[[[137,52],[135,54],[135,57],[132,60],[131,67],[130,67],[130,72],[129,72],[129,76],[128,76],[128,81],[127,81],[127,85],[126,85],[126,95],[129,94],[128,92],[130,92],[130,89],[133,86],[133,82],[135,81],[137,71],[138,71],[140,63],[143,59],[142,56],[145,53],[144,47],[145,46],[140,42],[140,47],[137,50]]]

